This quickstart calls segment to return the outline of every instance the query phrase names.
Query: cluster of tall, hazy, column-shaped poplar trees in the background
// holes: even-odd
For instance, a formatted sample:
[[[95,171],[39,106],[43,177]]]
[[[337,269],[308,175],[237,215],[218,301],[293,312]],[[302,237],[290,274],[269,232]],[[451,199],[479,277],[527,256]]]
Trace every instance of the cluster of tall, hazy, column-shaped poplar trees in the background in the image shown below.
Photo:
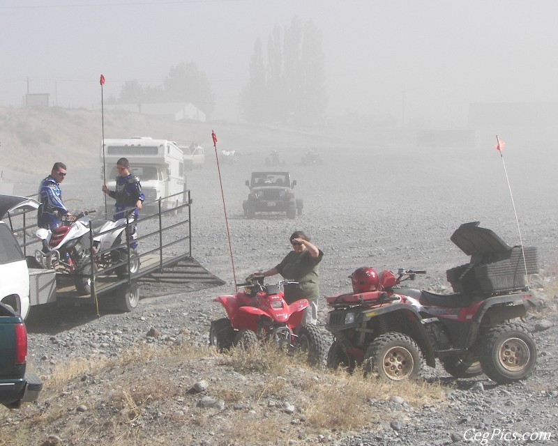
[[[259,122],[264,119],[291,124],[319,121],[326,109],[327,95],[322,35],[315,25],[309,21],[302,26],[295,17],[282,40],[278,26],[273,28],[267,43],[265,82],[261,80],[264,61],[259,55],[262,52],[259,43],[254,51],[250,80],[241,94],[243,116],[248,121]],[[256,73],[259,82],[255,82]],[[260,91],[262,85],[264,93]],[[256,104],[250,100],[254,97],[261,101]]]

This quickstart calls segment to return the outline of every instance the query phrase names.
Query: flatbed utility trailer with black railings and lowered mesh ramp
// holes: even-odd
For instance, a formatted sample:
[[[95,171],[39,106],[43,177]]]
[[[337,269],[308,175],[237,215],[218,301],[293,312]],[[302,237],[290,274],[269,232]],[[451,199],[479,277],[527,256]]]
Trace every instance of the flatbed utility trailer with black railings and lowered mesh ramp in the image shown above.
[[[16,236],[22,240],[20,245],[29,260],[30,277],[30,299],[31,306],[56,302],[59,305],[73,303],[74,305],[97,305],[99,300],[115,300],[119,309],[123,312],[131,312],[140,301],[140,285],[165,283],[184,284],[184,289],[190,291],[192,284],[197,289],[219,286],[224,284],[223,280],[214,276],[201,266],[192,256],[191,238],[191,203],[190,190],[175,194],[181,196],[183,204],[177,208],[163,210],[161,201],[163,199],[178,200],[179,197],[163,197],[151,204],[158,208],[155,214],[142,217],[137,220],[137,242],[139,243],[138,255],[140,257],[140,268],[134,274],[114,275],[119,268],[130,261],[126,259],[108,268],[92,270],[89,275],[91,280],[91,293],[80,294],[75,288],[75,274],[55,272],[52,269],[32,268],[33,259],[31,252],[38,249],[37,240],[29,236],[29,231],[34,233],[36,224],[26,225],[26,215],[23,215],[22,226],[14,228],[15,217],[10,220],[12,229]],[[27,223],[33,214],[27,215]],[[179,235],[177,235],[179,234]],[[91,238],[93,234],[90,234]],[[123,243],[124,245],[125,243]],[[110,252],[112,247],[99,251],[96,255]],[[32,251],[31,251],[32,249]],[[91,254],[93,256],[93,254]],[[92,259],[93,260],[93,259]],[[160,293],[159,293],[160,294]]]

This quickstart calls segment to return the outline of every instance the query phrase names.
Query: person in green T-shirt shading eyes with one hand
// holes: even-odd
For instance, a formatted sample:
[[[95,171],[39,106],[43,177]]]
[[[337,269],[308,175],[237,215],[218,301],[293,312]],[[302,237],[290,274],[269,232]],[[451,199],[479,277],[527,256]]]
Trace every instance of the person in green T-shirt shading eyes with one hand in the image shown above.
[[[299,282],[298,285],[285,285],[285,301],[292,304],[296,300],[308,299],[308,307],[304,310],[303,324],[316,324],[318,319],[319,274],[318,266],[324,253],[310,243],[310,238],[303,231],[294,231],[289,238],[292,251],[285,259],[265,272],[254,272],[264,277],[276,274],[286,280]]]

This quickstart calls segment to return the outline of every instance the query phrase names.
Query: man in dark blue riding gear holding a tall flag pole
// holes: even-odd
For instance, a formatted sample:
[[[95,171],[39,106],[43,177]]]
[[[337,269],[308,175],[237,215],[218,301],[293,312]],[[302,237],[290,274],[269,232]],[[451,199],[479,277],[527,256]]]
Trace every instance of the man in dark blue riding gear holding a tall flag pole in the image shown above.
[[[142,203],[145,196],[142,192],[142,185],[140,178],[130,173],[130,163],[126,158],[120,158],[116,161],[116,190],[109,190],[106,184],[103,185],[101,190],[109,197],[116,199],[114,204],[114,221],[126,218],[126,210],[130,210],[130,219],[137,220],[139,210],[142,209]],[[133,208],[133,210],[132,210]],[[136,240],[136,225],[130,226],[130,240]],[[137,242],[130,243],[132,249],[137,248]]]

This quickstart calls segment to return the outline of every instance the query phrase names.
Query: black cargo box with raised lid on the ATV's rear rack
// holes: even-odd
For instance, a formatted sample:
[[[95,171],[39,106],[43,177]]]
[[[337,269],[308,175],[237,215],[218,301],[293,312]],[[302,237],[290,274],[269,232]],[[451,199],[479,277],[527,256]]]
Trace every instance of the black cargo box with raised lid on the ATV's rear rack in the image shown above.
[[[538,273],[536,247],[511,247],[490,229],[478,227],[478,224],[464,223],[450,238],[462,252],[471,256],[469,263],[446,271],[453,291],[492,294],[527,289],[527,274]]]

